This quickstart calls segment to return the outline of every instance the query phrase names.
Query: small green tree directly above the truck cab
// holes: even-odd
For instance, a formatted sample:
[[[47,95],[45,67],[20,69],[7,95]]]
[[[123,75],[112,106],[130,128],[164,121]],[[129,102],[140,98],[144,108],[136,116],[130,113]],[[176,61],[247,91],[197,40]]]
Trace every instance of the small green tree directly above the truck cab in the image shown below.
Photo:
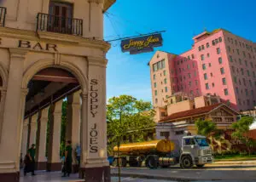
[[[197,134],[204,136],[209,136],[217,128],[216,123],[212,122],[212,120],[201,119],[195,122],[195,127],[197,128]]]

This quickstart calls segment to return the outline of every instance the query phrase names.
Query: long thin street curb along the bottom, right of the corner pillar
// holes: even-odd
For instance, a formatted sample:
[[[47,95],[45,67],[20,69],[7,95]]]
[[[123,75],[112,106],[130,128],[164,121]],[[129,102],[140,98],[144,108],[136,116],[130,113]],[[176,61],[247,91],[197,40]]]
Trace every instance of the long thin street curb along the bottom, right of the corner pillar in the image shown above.
[[[111,173],[111,176],[118,177],[119,173]],[[177,177],[166,177],[166,176],[158,176],[158,175],[148,175],[143,173],[121,173],[121,177],[131,177],[131,178],[138,178],[138,179],[163,179],[163,180],[172,180],[172,181],[200,181],[200,180],[211,180],[211,181],[217,181],[221,179],[186,179],[186,178],[177,178]]]

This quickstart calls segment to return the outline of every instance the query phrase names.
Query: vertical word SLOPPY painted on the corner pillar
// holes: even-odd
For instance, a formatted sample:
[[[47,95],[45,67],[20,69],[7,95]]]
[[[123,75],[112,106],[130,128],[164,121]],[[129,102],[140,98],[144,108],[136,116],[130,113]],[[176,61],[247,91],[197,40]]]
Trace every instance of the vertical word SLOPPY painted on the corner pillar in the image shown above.
[[[97,109],[98,109],[98,80],[91,79],[90,80],[90,114],[92,117],[96,117]]]

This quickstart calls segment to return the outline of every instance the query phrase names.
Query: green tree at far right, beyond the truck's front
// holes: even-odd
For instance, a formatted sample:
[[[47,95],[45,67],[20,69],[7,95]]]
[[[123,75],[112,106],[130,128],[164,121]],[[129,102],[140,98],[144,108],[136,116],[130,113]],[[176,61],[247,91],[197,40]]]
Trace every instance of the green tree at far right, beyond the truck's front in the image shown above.
[[[247,151],[251,155],[251,148],[254,145],[252,139],[248,137],[249,127],[253,124],[253,117],[241,117],[241,119],[232,124],[232,128],[235,129],[235,132],[232,133],[234,139],[241,140],[242,143],[247,145]]]

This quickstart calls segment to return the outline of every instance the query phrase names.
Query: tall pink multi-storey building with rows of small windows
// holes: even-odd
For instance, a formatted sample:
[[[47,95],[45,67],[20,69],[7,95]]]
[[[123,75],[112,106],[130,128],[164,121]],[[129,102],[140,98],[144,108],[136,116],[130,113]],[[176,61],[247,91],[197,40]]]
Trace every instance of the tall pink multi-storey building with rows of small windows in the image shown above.
[[[237,111],[256,106],[256,43],[218,29],[193,38],[180,55],[157,51],[150,60],[155,107],[177,92],[216,94]]]

